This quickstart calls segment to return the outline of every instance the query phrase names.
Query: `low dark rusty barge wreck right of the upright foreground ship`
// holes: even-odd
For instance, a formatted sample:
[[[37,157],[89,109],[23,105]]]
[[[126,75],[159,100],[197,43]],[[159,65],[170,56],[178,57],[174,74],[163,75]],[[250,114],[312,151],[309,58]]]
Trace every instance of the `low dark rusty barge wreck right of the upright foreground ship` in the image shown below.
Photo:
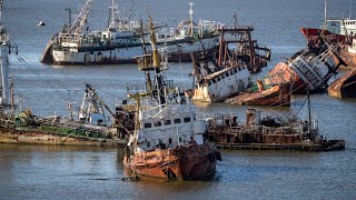
[[[247,109],[246,123],[236,116],[220,114],[209,120],[208,138],[218,148],[249,150],[332,151],[345,149],[345,140],[327,140],[319,133],[317,120],[301,120],[286,112],[266,116]]]

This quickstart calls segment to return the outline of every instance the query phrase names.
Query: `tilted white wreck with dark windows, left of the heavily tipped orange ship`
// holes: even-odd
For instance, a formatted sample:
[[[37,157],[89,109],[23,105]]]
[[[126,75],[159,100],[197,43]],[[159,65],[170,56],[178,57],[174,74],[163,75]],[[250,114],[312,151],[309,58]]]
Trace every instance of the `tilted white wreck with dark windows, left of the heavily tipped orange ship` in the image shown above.
[[[225,101],[246,91],[251,84],[248,66],[228,50],[224,31],[217,52],[195,52],[191,60],[195,88],[187,90],[186,94],[192,101]]]

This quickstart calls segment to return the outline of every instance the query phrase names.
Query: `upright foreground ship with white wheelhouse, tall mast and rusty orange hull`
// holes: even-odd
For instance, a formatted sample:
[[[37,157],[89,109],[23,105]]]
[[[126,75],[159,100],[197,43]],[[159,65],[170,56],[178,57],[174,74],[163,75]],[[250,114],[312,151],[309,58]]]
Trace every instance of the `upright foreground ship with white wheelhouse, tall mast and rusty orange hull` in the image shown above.
[[[205,141],[206,121],[198,120],[194,104],[164,79],[167,57],[158,56],[155,28],[151,28],[152,54],[136,57],[146,74],[146,89],[129,90],[135,99],[135,131],[128,142],[123,163],[134,176],[170,180],[196,180],[216,171],[220,152]],[[166,64],[164,64],[166,63]],[[150,71],[154,71],[151,79]],[[152,82],[154,81],[154,82]]]

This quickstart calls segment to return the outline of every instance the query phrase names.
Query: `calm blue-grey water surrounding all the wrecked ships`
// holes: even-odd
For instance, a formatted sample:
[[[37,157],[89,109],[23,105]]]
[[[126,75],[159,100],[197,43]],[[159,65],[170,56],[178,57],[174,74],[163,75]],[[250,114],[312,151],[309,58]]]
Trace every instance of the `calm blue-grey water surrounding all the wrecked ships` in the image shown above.
[[[21,108],[38,114],[68,114],[67,100],[79,102],[85,83],[97,87],[99,96],[113,108],[125,98],[126,86],[144,78],[135,64],[53,67],[39,62],[49,38],[68,20],[82,0],[8,0],[3,21],[19,47],[21,63],[11,59],[16,93]],[[109,0],[95,1],[89,22],[106,27]],[[329,13],[348,16],[349,0],[328,1]],[[135,1],[132,16],[165,21],[175,27],[188,18],[188,2],[174,0]],[[356,1],[352,8],[356,8]],[[120,1],[130,10],[129,1]],[[195,1],[197,19],[255,27],[260,44],[273,50],[273,59],[261,77],[283,58],[305,46],[299,27],[318,27],[324,19],[324,1],[212,0]],[[354,18],[354,16],[352,16]],[[39,21],[46,27],[37,27]],[[191,86],[190,64],[174,63],[168,77],[182,88]],[[297,111],[304,96],[294,96],[290,108],[259,108],[268,112]],[[246,107],[225,103],[197,103],[198,112],[237,112],[244,121]],[[42,147],[0,144],[0,199],[355,199],[356,198],[356,100],[340,100],[327,94],[312,96],[313,112],[328,139],[347,141],[345,151],[278,152],[224,151],[222,162],[210,181],[167,182],[148,179],[125,182],[120,149],[82,147]],[[300,117],[306,117],[304,110]]]

